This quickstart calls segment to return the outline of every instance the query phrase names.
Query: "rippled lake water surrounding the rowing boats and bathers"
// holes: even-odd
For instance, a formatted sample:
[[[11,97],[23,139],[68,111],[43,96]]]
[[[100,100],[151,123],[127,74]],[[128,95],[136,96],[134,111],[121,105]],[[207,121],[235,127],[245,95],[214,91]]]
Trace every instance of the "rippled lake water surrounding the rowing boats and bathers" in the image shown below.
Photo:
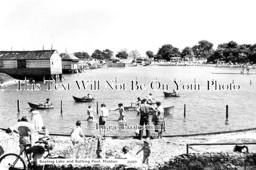
[[[95,121],[86,121],[89,105],[96,108],[98,101],[99,109],[102,103],[107,105],[107,109],[118,108],[118,103],[122,103],[123,106],[131,106],[131,102],[136,102],[137,97],[143,99],[149,93],[162,102],[163,107],[175,106],[173,115],[165,116],[166,132],[164,135],[207,133],[255,127],[256,75],[212,73],[240,73],[240,69],[156,65],[111,68],[86,71],[81,74],[63,74],[67,80],[57,82],[63,85],[51,84],[51,90],[47,90],[49,86],[43,82],[35,82],[37,90],[33,91],[24,90],[24,84],[21,85],[21,90],[17,90],[18,85],[11,85],[8,88],[0,89],[0,127],[10,127],[23,116],[30,118],[31,112],[27,102],[44,103],[46,98],[50,98],[54,108],[39,110],[49,133],[70,134],[75,122],[80,120],[85,135],[98,135],[99,130],[96,129],[98,116],[94,114]],[[256,71],[250,70],[250,73],[256,73]],[[87,89],[84,90],[82,81],[86,84],[88,80]],[[138,86],[135,85],[136,82]],[[134,88],[132,88],[133,83]],[[179,90],[176,90],[176,83]],[[36,84],[39,85],[36,86]],[[160,88],[158,89],[159,84]],[[168,85],[168,90],[166,90],[167,85],[164,85],[164,90],[162,89],[163,84]],[[219,85],[221,86],[220,90]],[[224,89],[222,85],[224,85]],[[113,90],[110,86],[113,87]],[[136,89],[137,87],[138,89]],[[120,88],[121,90],[119,90]],[[181,96],[164,97],[163,92],[172,92],[173,89]],[[82,97],[88,93],[95,98],[95,101],[74,102],[72,96]],[[17,112],[18,99],[21,105],[19,113]],[[62,115],[61,100],[63,101]],[[183,117],[184,104],[186,105],[186,118]],[[225,121],[226,105],[229,106],[228,122]],[[123,124],[131,127],[139,125],[137,113],[126,111],[124,122],[117,122],[118,117],[118,111],[110,111],[107,125],[117,128],[108,130],[107,135],[134,136],[134,130],[121,127]]]

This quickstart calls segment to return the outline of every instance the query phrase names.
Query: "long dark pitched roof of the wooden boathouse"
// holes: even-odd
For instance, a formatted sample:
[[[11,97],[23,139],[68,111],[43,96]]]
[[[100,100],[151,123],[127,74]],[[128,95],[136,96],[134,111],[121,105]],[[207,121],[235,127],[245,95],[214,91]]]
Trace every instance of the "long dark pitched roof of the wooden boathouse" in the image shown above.
[[[49,59],[56,50],[40,51],[0,51],[0,60]]]

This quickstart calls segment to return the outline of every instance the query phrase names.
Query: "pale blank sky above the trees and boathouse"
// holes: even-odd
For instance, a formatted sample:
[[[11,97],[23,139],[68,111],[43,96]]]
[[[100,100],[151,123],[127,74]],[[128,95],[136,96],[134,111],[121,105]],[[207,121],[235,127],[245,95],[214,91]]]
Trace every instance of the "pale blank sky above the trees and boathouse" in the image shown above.
[[[254,0],[2,0],[0,51],[155,54],[200,40],[256,43]]]

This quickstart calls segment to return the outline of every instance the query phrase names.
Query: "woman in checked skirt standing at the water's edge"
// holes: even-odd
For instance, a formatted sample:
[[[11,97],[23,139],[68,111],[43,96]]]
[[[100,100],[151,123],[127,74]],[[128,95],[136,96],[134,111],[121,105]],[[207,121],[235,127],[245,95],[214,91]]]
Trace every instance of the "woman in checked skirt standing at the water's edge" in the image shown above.
[[[165,121],[164,121],[164,108],[161,106],[161,102],[157,102],[157,111],[154,115],[154,125],[157,126],[155,132],[158,132],[158,138],[163,138],[162,133],[165,131]]]

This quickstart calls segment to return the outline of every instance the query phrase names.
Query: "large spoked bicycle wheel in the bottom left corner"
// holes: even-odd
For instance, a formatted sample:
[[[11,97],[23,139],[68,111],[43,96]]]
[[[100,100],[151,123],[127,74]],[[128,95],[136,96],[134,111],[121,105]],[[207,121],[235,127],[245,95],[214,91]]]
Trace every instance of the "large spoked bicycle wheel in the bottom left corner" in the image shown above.
[[[0,170],[26,170],[26,164],[19,155],[8,153],[0,158]]]

